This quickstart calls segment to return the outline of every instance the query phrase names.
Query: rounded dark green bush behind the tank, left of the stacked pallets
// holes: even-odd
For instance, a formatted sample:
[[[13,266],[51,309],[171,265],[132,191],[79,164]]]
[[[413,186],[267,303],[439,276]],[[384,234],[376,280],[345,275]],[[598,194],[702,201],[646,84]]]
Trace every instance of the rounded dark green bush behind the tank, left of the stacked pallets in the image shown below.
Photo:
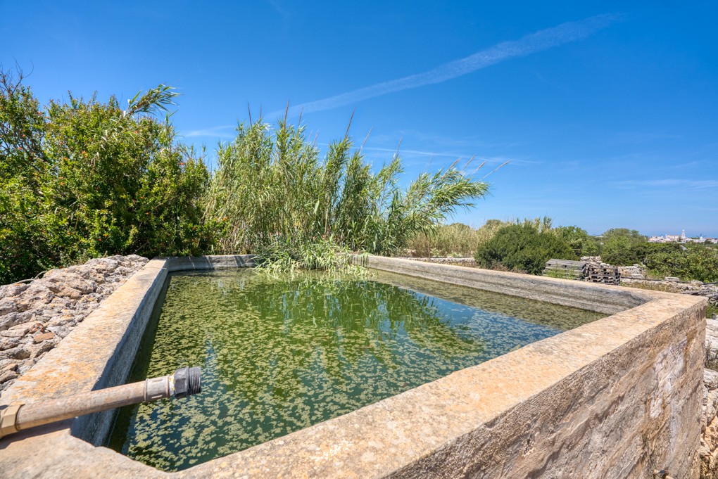
[[[491,240],[480,245],[475,254],[477,265],[485,268],[506,267],[517,272],[540,275],[552,258],[576,260],[577,255],[559,235],[539,229],[528,222],[506,226]]]

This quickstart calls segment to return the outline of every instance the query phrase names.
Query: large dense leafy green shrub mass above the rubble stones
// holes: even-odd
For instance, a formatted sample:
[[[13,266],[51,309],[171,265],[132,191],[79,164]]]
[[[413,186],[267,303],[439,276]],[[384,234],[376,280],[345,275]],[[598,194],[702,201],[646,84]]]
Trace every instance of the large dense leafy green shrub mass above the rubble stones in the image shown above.
[[[74,98],[41,108],[0,72],[0,283],[88,257],[197,254],[208,171],[179,143],[160,85],[122,110]]]

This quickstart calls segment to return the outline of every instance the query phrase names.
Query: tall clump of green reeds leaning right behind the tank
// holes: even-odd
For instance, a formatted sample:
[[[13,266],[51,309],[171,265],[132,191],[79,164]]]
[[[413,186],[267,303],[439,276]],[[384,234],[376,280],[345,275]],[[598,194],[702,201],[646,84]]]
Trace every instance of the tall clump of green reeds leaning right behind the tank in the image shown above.
[[[403,172],[396,155],[373,171],[348,134],[322,156],[304,126],[286,118],[276,128],[261,119],[241,123],[236,138],[220,144],[208,189],[215,252],[259,252],[287,267],[299,261],[320,269],[335,264],[321,258],[347,252],[395,255],[488,191],[456,163],[419,174],[405,189]]]

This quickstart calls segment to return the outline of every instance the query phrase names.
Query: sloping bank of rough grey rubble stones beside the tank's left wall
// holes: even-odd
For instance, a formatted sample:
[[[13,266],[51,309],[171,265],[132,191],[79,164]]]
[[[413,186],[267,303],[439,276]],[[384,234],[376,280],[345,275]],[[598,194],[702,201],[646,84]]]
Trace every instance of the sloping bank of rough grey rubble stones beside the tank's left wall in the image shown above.
[[[0,395],[148,261],[98,258],[0,286]]]

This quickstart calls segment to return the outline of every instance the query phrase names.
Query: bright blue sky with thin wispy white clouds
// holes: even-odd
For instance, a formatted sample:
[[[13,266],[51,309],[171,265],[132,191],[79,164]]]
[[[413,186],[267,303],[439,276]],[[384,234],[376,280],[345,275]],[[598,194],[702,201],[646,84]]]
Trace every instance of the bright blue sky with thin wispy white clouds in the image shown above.
[[[686,4],[684,4],[686,3]],[[247,105],[318,142],[398,142],[406,179],[476,155],[458,221],[718,236],[718,3],[0,0],[0,62],[42,101],[167,83],[208,161]]]

